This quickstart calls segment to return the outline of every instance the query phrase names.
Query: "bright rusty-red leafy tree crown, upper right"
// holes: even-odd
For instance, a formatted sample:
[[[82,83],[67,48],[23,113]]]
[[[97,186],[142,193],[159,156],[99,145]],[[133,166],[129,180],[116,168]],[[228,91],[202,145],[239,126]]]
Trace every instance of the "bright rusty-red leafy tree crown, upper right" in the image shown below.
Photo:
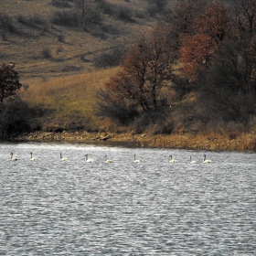
[[[221,42],[229,31],[229,13],[223,5],[211,5],[206,12],[193,21],[194,33],[181,37],[180,59],[184,73],[190,81],[208,69]]]

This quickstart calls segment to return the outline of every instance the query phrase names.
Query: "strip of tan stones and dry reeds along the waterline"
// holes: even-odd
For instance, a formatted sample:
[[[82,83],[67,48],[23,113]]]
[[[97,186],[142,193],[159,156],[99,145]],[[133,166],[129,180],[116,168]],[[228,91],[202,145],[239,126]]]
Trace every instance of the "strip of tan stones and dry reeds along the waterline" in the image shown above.
[[[23,133],[11,138],[27,142],[65,142],[89,144],[122,144],[138,147],[188,148],[204,150],[252,151],[256,152],[256,133],[240,133],[230,137],[215,133],[152,135],[148,133],[88,133],[76,132],[35,132]]]

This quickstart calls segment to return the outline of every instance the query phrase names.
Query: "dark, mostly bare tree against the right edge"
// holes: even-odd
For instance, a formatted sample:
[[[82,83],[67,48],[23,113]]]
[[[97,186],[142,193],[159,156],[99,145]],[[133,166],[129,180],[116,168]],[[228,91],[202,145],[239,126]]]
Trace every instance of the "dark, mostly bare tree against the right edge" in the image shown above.
[[[200,78],[200,102],[225,122],[246,125],[256,115],[255,7],[255,0],[232,5],[229,37],[221,41],[207,76]]]

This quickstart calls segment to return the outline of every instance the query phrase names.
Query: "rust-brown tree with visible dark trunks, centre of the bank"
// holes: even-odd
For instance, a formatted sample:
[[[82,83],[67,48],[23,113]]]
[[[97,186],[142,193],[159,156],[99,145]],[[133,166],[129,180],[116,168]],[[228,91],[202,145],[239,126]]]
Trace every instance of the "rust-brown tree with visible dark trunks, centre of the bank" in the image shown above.
[[[160,93],[172,74],[172,51],[165,34],[155,29],[131,46],[121,70],[105,85],[111,102],[123,101],[137,112],[154,112],[162,106]],[[126,107],[127,107],[126,106]]]

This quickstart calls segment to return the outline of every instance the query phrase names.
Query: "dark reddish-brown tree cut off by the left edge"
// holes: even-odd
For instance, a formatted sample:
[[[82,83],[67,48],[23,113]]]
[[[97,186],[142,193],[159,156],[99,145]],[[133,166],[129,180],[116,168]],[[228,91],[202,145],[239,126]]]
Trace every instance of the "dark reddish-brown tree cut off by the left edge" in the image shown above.
[[[13,66],[2,65],[0,68],[0,103],[3,105],[5,98],[16,95],[21,88],[19,76]]]

